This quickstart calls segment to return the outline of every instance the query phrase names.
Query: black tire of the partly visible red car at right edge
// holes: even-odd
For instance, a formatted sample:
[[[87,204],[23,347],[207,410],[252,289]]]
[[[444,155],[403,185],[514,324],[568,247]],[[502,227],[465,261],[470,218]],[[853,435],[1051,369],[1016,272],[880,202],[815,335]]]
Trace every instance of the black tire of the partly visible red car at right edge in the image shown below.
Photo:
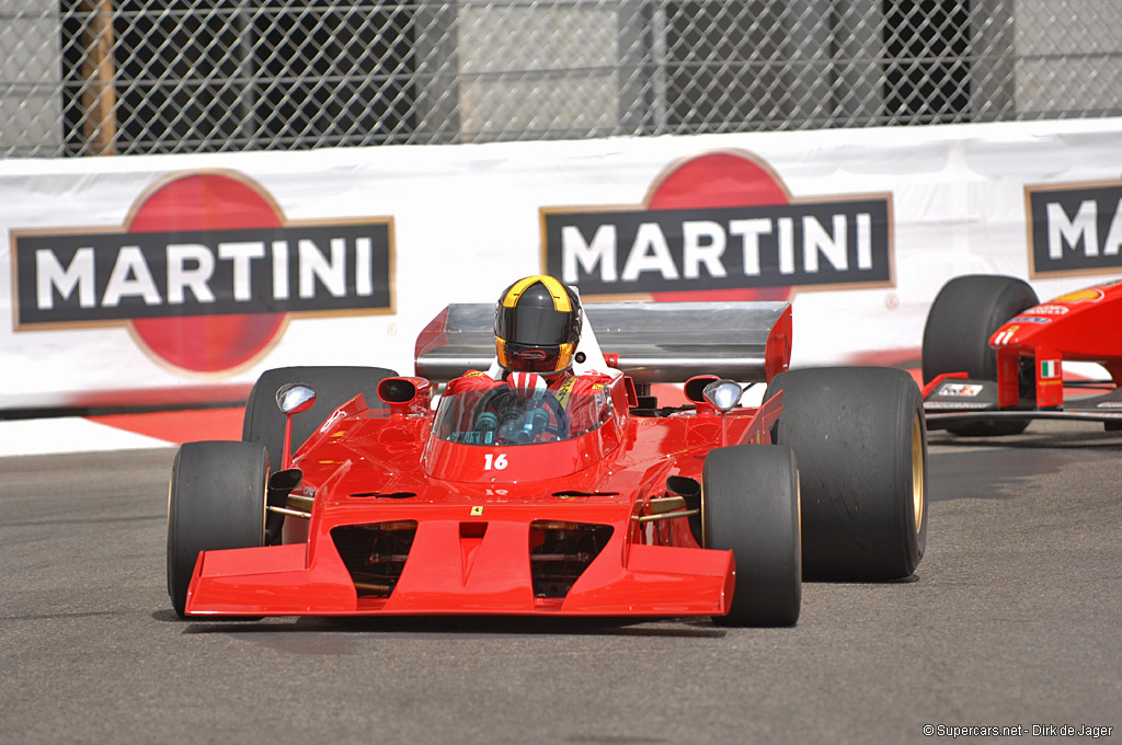
[[[923,383],[944,372],[966,372],[982,380],[997,379],[997,353],[990,337],[1005,321],[1038,305],[1037,294],[1017,277],[968,275],[955,277],[939,291],[923,326]],[[1023,360],[1022,395],[1031,393],[1034,375]],[[971,420],[948,426],[954,434],[996,436],[1024,431],[1029,420]]]

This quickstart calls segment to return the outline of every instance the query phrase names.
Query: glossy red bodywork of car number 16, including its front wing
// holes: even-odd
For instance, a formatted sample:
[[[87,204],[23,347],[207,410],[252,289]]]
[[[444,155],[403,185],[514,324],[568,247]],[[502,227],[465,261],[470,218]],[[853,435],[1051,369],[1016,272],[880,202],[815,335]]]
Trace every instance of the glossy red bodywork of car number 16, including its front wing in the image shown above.
[[[303,499],[307,517],[286,518],[282,545],[202,552],[188,615],[728,611],[733,554],[699,546],[668,479],[699,487],[712,448],[770,442],[781,395],[727,414],[702,401],[640,416],[619,376],[598,429],[488,447],[433,436],[427,381],[408,380],[411,399],[387,411],[358,396],[300,448],[289,506]]]

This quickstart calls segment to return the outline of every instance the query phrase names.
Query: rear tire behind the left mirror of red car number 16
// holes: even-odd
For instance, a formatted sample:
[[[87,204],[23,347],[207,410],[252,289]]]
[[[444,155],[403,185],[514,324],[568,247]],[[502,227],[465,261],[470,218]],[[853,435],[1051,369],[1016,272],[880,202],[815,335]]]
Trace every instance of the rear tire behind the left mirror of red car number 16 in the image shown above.
[[[265,445],[269,451],[269,462],[279,470],[284,462],[280,451],[284,448],[285,416],[277,408],[277,388],[286,383],[303,383],[315,392],[312,407],[296,414],[292,421],[292,449],[296,451],[320,429],[331,412],[356,395],[361,393],[370,408],[383,407],[378,384],[396,375],[381,367],[279,367],[266,370],[249,392],[241,440]]]

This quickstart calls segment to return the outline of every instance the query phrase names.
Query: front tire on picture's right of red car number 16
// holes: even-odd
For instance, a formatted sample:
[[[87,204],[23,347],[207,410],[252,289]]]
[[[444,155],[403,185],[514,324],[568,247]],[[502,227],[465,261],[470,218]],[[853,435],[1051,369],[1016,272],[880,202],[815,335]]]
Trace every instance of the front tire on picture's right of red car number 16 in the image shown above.
[[[733,550],[736,586],[727,626],[793,626],[802,597],[799,475],[781,445],[709,451],[701,477],[707,549]]]

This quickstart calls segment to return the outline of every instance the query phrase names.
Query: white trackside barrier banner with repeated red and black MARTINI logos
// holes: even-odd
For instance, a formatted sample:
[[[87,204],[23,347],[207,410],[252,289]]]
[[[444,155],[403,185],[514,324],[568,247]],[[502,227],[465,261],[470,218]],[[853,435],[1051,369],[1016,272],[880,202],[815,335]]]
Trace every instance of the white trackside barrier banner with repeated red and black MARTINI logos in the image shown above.
[[[1120,119],[4,160],[0,408],[411,374],[445,304],[551,269],[586,295],[789,297],[795,366],[918,360],[953,276],[1043,298],[1122,275],[1120,164]]]

